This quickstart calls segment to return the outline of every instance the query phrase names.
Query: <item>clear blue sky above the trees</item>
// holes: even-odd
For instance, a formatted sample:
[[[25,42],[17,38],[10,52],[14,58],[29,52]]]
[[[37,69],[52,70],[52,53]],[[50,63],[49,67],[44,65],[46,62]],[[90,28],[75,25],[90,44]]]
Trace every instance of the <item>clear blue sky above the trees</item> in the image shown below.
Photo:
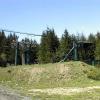
[[[75,35],[96,34],[100,0],[0,0],[0,29],[42,34],[47,27],[54,28],[58,37],[65,29]]]

